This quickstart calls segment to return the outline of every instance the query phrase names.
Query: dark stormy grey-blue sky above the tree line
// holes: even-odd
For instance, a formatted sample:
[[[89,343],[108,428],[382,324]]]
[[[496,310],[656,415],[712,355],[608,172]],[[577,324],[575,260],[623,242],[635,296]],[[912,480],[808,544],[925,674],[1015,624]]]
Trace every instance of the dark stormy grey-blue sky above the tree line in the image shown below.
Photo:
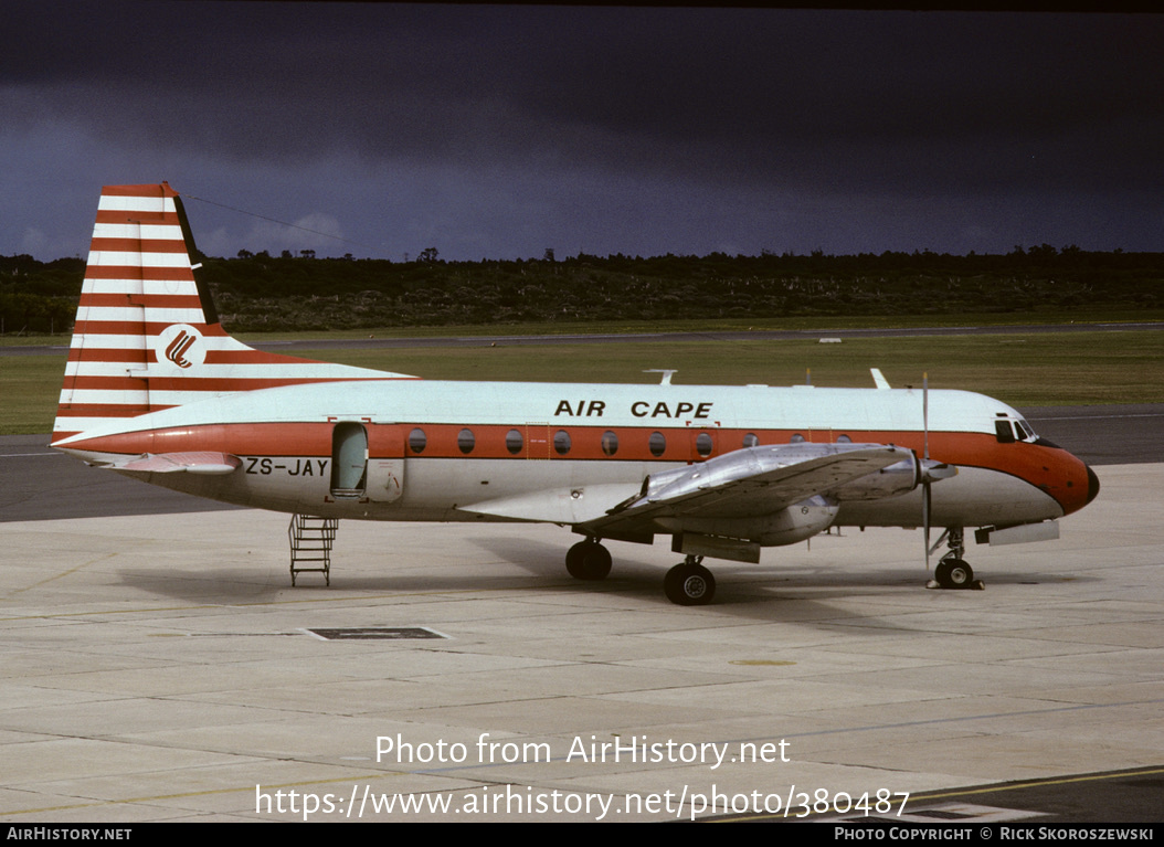
[[[0,2],[0,254],[1164,250],[1164,16]]]

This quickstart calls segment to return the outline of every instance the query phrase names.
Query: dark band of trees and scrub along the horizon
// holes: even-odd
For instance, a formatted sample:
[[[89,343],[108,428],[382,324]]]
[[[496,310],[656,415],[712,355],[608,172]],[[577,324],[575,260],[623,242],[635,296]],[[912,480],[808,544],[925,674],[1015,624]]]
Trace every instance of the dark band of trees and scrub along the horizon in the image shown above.
[[[1078,312],[1162,305],[1164,254],[1016,247],[1008,254],[591,256],[448,262],[200,256],[234,332],[464,323]],[[0,330],[66,332],[84,261],[0,256]]]

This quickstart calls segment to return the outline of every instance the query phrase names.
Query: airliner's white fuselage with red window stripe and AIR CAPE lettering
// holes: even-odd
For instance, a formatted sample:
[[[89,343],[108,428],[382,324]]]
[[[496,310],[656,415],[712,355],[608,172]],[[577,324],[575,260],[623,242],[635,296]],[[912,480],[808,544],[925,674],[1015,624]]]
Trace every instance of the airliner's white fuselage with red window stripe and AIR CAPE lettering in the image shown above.
[[[959,469],[932,486],[935,524],[1034,522],[1086,504],[1088,471],[1078,458],[1045,442],[1000,440],[1000,422],[1014,432],[1009,428],[1021,420],[1013,408],[968,392],[929,394],[929,455]],[[112,430],[118,428],[59,446],[101,462],[232,454],[241,467],[229,475],[150,474],[148,481],[276,511],[566,524],[601,514],[651,474],[745,447],[852,442],[922,455],[927,440],[918,390],[762,385],[325,383],[215,397]],[[345,449],[355,456],[349,479],[336,468]],[[591,497],[594,489],[603,496]],[[501,513],[474,510],[531,494],[531,503]],[[553,506],[559,496],[572,508]],[[914,491],[845,501],[833,522],[920,521]]]

